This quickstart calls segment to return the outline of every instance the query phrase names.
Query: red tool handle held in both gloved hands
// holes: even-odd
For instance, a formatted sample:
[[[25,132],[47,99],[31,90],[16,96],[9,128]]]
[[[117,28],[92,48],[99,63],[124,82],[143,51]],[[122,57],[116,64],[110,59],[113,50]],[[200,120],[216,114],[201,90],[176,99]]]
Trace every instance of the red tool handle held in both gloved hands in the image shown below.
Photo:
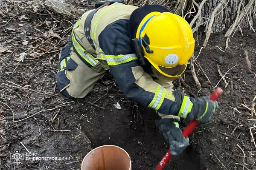
[[[212,95],[210,96],[210,100],[212,101],[216,101],[221,94],[223,93],[221,88],[216,88],[215,91],[212,93]],[[189,136],[189,134],[194,130],[194,128],[198,125],[198,121],[197,120],[192,120],[189,125],[187,125],[187,127],[183,130],[182,134],[185,138],[187,138]],[[166,163],[168,163],[171,159],[172,159],[172,155],[170,154],[171,150],[168,150],[165,154],[165,156],[163,157],[163,159],[159,162],[159,164],[157,165],[156,170],[163,170],[163,168],[165,167]]]

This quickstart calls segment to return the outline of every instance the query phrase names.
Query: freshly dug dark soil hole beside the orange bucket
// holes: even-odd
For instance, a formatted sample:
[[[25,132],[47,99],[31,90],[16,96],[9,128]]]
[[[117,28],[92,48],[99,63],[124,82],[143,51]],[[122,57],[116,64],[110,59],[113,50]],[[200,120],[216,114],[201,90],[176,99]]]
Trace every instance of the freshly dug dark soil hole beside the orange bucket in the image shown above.
[[[108,108],[106,108],[108,109]],[[113,109],[113,108],[111,108]],[[132,160],[132,170],[154,170],[168,150],[168,143],[156,130],[155,111],[146,108],[141,111],[143,125],[137,129],[125,122],[131,119],[131,110],[109,110],[91,115],[89,124],[83,124],[82,130],[91,141],[92,147],[113,144],[128,152]],[[165,170],[205,170],[200,159],[190,146],[180,156],[173,156]]]

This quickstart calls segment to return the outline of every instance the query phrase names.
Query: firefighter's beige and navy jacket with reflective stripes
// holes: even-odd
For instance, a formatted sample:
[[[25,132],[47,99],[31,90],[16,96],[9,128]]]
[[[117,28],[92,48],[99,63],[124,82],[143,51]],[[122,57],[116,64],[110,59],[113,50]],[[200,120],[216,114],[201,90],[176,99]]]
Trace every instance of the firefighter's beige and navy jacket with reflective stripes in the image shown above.
[[[73,50],[88,67],[100,63],[105,71],[110,70],[127,98],[155,109],[162,118],[184,117],[192,108],[189,98],[173,91],[171,82],[153,79],[150,69],[140,66],[131,41],[146,14],[168,10],[156,5],[141,8],[143,12],[136,6],[122,3],[104,6],[93,15],[90,29],[84,27],[91,12],[87,11],[73,27]],[[90,31],[88,37],[86,31]]]

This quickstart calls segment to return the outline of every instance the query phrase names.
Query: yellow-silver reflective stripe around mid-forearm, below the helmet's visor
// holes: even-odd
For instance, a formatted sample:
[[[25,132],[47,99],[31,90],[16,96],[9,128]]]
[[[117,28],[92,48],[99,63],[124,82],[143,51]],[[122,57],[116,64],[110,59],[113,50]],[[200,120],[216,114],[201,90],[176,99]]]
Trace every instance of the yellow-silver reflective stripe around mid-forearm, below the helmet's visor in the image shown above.
[[[162,105],[162,103],[163,103],[163,99],[164,99],[165,95],[166,95],[166,89],[161,85],[157,85],[157,90],[156,90],[156,93],[154,95],[154,98],[150,102],[148,107],[153,108],[155,110],[158,110],[160,108],[160,106]]]

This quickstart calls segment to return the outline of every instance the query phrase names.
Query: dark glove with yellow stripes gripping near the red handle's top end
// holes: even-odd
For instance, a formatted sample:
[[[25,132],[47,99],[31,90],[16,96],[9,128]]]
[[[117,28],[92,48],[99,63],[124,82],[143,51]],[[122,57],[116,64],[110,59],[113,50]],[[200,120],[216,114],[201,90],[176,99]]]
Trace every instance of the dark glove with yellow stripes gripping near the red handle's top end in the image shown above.
[[[185,96],[184,96],[185,98]],[[189,98],[187,103],[190,102],[190,105],[192,104],[191,112],[186,115],[186,117],[181,116],[183,118],[192,120],[196,119],[199,122],[209,122],[210,119],[212,118],[212,115],[217,111],[218,109],[218,102],[211,101],[209,99],[209,96],[204,96],[200,98]]]

